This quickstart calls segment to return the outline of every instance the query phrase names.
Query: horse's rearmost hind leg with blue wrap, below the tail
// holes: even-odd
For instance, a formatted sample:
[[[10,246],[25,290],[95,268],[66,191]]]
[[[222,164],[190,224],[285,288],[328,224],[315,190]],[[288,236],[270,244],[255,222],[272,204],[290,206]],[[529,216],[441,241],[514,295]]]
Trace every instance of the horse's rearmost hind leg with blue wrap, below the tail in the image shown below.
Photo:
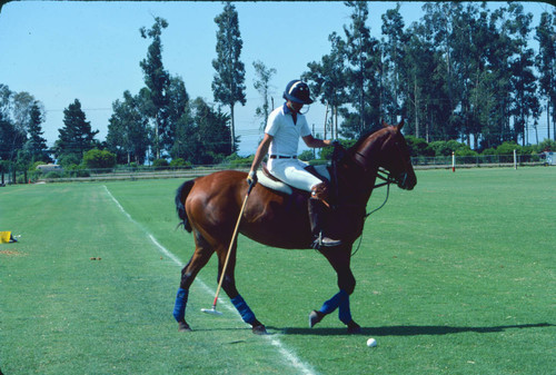
[[[189,263],[181,269],[181,280],[173,305],[173,317],[178,322],[179,330],[191,330],[186,322],[186,307],[189,296],[189,287],[195,280],[195,277],[207,265],[210,257],[215,253],[214,248],[198,233],[195,233],[195,253],[189,259]]]

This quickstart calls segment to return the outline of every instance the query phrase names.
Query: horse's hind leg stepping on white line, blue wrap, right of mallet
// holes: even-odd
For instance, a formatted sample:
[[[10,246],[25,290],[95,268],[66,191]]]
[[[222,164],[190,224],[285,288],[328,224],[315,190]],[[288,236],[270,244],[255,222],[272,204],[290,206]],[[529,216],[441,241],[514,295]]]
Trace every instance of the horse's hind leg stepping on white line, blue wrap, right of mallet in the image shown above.
[[[245,323],[250,324],[252,327],[252,333],[258,335],[264,335],[267,333],[265,325],[260,323],[251,308],[247,305],[244,297],[239,294],[236,287],[236,277],[235,277],[235,268],[236,268],[236,249],[237,241],[234,244],[231,248],[230,258],[228,260],[228,266],[226,267],[226,273],[222,279],[222,289],[226,292],[231,303],[238,310],[239,315],[244,319]],[[226,254],[228,249],[222,249],[218,251],[218,277],[222,274],[224,264],[226,261]]]

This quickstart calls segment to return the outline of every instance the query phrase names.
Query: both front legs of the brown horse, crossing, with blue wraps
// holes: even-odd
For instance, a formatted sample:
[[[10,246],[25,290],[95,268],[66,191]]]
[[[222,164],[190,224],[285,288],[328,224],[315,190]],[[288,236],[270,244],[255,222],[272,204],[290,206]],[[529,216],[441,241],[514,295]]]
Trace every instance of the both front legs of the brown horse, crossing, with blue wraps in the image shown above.
[[[312,310],[309,314],[309,326],[311,328],[322,320],[326,315],[334,313],[338,308],[338,317],[341,323],[347,325],[348,333],[359,333],[361,330],[361,327],[353,319],[351,309],[349,307],[349,295],[354,293],[356,285],[354,274],[349,266],[349,247],[338,247],[330,249],[324,248],[320,250],[336,270],[340,290],[330,299],[326,300],[320,309]]]

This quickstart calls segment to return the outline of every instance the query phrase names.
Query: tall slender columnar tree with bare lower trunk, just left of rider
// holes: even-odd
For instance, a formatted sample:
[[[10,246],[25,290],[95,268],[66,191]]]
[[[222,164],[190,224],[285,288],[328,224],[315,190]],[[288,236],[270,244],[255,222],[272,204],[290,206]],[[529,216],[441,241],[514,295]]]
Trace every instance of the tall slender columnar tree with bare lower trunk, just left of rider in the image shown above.
[[[231,149],[236,151],[236,130],[234,107],[237,102],[245,106],[245,66],[239,60],[244,42],[239,32],[236,7],[227,1],[222,13],[215,18],[218,24],[216,33],[217,59],[212,60],[216,70],[212,80],[215,100],[229,106],[231,118]]]

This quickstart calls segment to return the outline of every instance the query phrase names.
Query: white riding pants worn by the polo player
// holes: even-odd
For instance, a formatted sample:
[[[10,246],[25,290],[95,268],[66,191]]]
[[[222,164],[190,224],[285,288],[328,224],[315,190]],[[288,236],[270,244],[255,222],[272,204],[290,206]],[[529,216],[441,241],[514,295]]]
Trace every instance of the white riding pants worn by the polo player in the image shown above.
[[[268,170],[292,187],[310,191],[315,185],[322,182],[319,178],[308,172],[307,164],[298,159],[269,159]]]

